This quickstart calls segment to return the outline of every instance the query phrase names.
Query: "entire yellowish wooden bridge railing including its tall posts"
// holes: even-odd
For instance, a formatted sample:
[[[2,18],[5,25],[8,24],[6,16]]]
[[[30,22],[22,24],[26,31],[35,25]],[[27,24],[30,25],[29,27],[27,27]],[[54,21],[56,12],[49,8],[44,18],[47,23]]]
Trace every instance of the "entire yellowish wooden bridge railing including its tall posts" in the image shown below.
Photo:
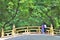
[[[57,32],[56,29],[53,29],[52,25],[51,27],[47,27],[47,34],[54,35],[60,33],[60,30]],[[28,26],[28,27],[19,27],[15,28],[15,25],[13,25],[12,30],[4,31],[2,28],[2,36],[10,36],[10,35],[15,35],[15,34],[22,34],[22,33],[36,33],[36,34],[41,34],[41,26]]]

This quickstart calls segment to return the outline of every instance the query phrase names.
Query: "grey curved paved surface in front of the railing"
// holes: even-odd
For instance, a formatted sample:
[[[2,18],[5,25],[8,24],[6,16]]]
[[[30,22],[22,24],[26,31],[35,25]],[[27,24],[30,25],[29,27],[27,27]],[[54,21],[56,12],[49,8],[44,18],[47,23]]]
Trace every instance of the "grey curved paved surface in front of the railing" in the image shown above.
[[[60,36],[49,36],[46,34],[23,34],[22,36],[14,36],[6,40],[60,40]]]

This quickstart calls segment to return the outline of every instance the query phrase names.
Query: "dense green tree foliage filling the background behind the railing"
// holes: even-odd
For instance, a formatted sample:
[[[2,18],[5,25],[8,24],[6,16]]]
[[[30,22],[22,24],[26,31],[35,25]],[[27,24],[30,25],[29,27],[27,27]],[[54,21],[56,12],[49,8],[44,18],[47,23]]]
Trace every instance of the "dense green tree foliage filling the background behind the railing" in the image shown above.
[[[0,29],[12,25],[60,28],[60,0],[0,0]]]

